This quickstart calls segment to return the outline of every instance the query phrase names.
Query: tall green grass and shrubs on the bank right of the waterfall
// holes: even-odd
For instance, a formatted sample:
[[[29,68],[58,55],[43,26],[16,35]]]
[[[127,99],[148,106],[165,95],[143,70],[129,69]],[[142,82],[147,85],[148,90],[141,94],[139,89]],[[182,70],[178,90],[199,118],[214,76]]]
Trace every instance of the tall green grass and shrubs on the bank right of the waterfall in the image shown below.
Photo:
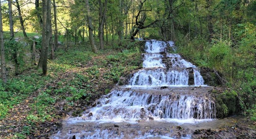
[[[246,114],[254,115],[254,105],[256,102],[256,69],[255,69],[255,25],[237,24],[234,29],[235,44],[229,40],[213,40],[210,44],[203,40],[194,38],[188,39],[187,36],[179,36],[176,41],[178,52],[185,57],[191,57],[196,65],[206,66],[218,70],[226,82],[226,86],[234,88],[236,94],[224,93],[219,108],[226,109],[227,114],[236,112],[236,103],[246,111]],[[204,39],[205,40],[205,39]],[[239,100],[236,100],[239,96]],[[225,115],[225,113],[224,113]]]

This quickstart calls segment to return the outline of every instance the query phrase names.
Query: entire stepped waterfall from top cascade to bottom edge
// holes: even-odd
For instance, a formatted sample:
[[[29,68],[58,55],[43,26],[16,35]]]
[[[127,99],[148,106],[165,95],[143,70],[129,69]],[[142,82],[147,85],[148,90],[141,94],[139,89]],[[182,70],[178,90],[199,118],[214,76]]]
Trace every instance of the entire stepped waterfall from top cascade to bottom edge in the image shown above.
[[[191,138],[195,128],[181,133],[174,126],[214,122],[212,87],[199,68],[168,48],[176,50],[172,41],[146,41],[143,69],[83,116],[65,120],[52,138]]]

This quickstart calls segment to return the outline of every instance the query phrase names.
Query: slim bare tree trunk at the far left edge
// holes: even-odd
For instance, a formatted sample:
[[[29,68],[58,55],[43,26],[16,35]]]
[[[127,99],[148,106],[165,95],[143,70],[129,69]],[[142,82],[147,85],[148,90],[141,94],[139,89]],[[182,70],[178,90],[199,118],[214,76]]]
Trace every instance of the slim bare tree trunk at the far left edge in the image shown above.
[[[1,74],[3,83],[7,82],[7,73],[6,73],[6,62],[5,62],[5,53],[4,53],[4,42],[3,42],[3,22],[2,22],[2,5],[0,1],[0,51],[1,51]]]

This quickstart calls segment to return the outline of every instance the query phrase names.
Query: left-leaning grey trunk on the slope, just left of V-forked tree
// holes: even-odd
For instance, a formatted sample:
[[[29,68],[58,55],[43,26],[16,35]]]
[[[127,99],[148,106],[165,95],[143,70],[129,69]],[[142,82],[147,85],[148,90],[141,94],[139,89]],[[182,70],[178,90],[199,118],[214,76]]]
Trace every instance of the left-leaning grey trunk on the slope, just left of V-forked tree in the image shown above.
[[[94,44],[94,38],[93,38],[93,26],[92,26],[92,19],[90,15],[90,7],[89,7],[89,1],[85,0],[86,2],[86,12],[87,12],[87,20],[88,20],[88,27],[89,27],[89,40],[92,47],[92,52],[97,53],[97,47]]]

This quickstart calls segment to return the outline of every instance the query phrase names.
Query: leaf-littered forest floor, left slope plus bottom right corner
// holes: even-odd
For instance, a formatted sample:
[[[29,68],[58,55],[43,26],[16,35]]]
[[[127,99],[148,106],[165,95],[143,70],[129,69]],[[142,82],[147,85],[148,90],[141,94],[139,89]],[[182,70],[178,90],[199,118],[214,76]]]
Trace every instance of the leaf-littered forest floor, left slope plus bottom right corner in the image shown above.
[[[36,66],[23,70],[0,86],[0,138],[48,138],[61,128],[61,120],[79,116],[95,99],[110,92],[120,76],[141,68],[141,52],[111,48],[91,52],[89,47],[60,49],[43,77]],[[255,137],[255,122],[233,119],[218,130],[196,130],[195,138]],[[180,129],[182,130],[182,129]]]

